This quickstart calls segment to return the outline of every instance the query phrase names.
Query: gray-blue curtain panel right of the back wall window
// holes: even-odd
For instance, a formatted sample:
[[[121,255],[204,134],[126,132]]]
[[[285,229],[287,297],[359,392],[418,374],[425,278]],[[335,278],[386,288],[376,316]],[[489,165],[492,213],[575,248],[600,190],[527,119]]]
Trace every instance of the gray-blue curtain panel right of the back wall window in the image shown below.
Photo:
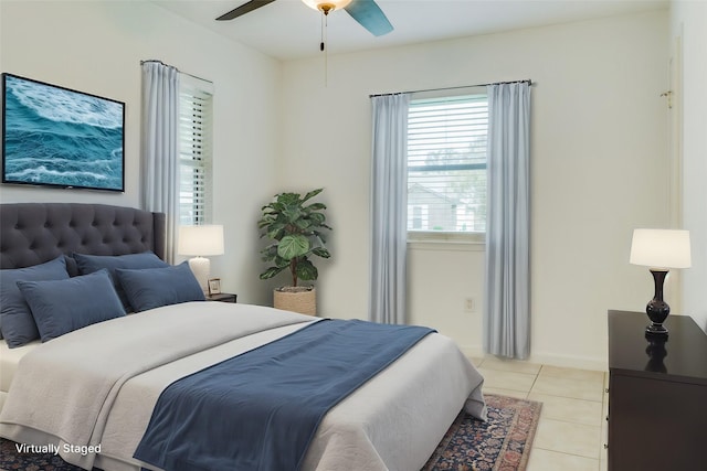
[[[530,86],[488,92],[488,201],[484,350],[530,354]]]

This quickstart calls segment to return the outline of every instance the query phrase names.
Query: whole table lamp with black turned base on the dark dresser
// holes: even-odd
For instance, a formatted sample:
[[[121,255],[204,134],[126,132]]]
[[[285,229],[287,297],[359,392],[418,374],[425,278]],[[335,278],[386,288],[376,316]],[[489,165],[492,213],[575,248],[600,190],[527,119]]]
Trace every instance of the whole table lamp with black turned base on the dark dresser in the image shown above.
[[[663,282],[671,268],[690,266],[689,232],[634,229],[629,261],[651,267],[655,283],[655,295],[645,308],[651,319],[651,324],[645,330],[646,335],[667,336],[663,322],[671,313],[671,307],[663,300]]]

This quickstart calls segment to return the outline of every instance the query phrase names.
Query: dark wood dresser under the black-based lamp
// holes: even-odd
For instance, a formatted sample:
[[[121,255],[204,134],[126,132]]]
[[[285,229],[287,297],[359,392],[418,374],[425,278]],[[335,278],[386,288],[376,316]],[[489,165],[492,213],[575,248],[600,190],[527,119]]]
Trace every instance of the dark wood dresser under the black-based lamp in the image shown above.
[[[669,315],[650,342],[648,322],[609,311],[609,471],[707,469],[707,334]]]

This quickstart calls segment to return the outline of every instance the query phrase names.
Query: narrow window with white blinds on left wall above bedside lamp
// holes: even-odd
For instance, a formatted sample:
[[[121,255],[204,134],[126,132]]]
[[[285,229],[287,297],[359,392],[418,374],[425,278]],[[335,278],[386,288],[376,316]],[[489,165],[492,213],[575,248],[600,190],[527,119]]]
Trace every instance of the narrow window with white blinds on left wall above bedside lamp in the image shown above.
[[[182,225],[211,222],[212,85],[183,75],[179,90],[179,218]]]

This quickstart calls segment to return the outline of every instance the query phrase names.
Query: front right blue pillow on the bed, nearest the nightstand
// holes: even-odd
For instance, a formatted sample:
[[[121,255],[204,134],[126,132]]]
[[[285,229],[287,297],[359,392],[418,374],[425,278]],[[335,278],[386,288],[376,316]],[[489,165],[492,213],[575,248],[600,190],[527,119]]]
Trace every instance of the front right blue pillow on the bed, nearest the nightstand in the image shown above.
[[[187,261],[167,268],[115,270],[135,312],[205,300],[199,281]]]

